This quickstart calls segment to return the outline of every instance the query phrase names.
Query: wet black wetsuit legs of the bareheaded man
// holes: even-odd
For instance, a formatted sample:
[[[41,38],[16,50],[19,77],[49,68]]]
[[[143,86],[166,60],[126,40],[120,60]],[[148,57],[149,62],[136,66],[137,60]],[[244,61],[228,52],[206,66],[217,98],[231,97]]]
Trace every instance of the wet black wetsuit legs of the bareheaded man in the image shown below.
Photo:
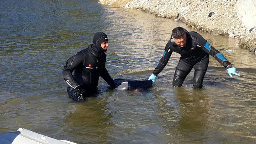
[[[185,62],[183,59],[180,59],[174,73],[172,85],[182,86],[185,78],[188,76],[188,74],[190,73],[190,71],[194,66],[195,73],[193,78],[193,86],[194,88],[202,88],[204,75],[208,68],[208,64],[209,64],[209,57],[203,58],[201,61],[196,63],[188,63],[188,62]]]

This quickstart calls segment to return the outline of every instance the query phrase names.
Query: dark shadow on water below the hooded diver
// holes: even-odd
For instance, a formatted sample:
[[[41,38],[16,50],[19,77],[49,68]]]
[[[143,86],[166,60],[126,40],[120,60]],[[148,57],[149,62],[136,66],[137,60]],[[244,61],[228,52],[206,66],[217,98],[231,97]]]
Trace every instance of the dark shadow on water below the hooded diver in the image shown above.
[[[73,109],[65,116],[63,131],[74,140],[82,138],[77,143],[104,143],[111,139],[108,135],[114,126],[110,121],[113,116],[104,98],[90,97],[88,101],[73,103]]]

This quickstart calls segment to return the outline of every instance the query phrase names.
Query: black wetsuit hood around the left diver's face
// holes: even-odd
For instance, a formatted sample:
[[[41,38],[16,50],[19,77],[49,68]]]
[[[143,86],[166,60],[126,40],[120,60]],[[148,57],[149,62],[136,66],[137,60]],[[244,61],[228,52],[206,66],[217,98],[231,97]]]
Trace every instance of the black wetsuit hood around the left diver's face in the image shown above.
[[[108,36],[104,33],[104,32],[97,32],[94,36],[93,36],[93,48],[95,49],[95,51],[97,51],[98,53],[100,52],[106,52],[107,50],[104,50],[101,47],[101,43],[108,41]]]

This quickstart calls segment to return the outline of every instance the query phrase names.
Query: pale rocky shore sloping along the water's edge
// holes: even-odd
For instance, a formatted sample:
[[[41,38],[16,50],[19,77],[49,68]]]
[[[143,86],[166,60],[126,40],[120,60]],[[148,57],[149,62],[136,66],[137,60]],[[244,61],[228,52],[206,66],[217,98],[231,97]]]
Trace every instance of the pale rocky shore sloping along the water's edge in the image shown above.
[[[242,48],[256,54],[255,0],[100,0],[100,2],[185,22],[188,26],[204,32],[238,38]]]

